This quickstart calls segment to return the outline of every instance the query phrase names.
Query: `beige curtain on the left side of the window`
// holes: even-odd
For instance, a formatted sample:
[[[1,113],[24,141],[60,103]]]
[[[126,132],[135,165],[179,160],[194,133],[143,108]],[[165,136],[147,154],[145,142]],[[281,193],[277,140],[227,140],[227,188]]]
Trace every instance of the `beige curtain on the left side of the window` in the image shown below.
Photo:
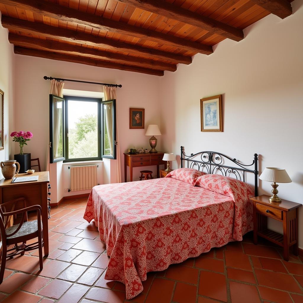
[[[63,86],[64,86],[64,82],[56,81],[55,79],[52,79],[50,94],[63,98]],[[62,108],[56,108],[54,112],[55,133],[54,133],[54,142],[53,142],[54,145],[53,147],[56,156],[58,155],[58,143],[59,143],[60,129],[62,126],[61,115],[62,115]],[[49,144],[47,147],[47,155],[46,155],[46,170],[49,171]]]

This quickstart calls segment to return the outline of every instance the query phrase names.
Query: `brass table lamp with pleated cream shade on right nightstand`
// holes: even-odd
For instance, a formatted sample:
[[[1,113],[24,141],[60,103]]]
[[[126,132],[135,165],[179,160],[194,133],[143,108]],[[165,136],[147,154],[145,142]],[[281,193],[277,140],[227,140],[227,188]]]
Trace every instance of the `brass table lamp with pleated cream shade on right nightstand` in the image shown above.
[[[265,170],[262,172],[262,174],[259,177],[260,180],[263,181],[269,181],[269,182],[274,182],[271,184],[272,186],[272,196],[268,199],[270,202],[281,202],[281,199],[277,196],[278,194],[278,189],[277,187],[279,186],[276,184],[278,183],[290,183],[291,178],[289,177],[288,173],[284,168],[278,168],[278,167],[267,167]]]

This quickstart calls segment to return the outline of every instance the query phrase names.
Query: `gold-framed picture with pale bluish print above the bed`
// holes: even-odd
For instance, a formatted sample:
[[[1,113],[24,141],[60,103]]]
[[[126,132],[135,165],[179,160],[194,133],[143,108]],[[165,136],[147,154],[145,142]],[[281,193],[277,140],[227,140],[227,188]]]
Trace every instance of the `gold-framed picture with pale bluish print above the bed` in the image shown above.
[[[222,132],[221,95],[200,99],[201,132]]]

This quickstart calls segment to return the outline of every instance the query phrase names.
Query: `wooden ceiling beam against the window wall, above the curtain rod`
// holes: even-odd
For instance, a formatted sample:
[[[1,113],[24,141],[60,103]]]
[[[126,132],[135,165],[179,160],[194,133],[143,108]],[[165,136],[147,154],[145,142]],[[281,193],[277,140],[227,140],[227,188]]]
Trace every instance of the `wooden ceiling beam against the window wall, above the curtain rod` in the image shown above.
[[[158,71],[156,69],[143,68],[143,67],[141,68],[141,67],[123,65],[123,64],[112,63],[112,62],[93,60],[93,59],[88,59],[85,57],[45,52],[45,51],[40,51],[40,50],[35,50],[35,49],[30,49],[30,48],[23,48],[23,47],[19,47],[19,46],[15,46],[14,52],[15,52],[15,54],[18,54],[18,55],[40,57],[40,58],[45,58],[45,59],[79,63],[79,64],[92,65],[92,66],[97,66],[97,67],[114,68],[114,69],[120,69],[122,71],[138,72],[138,73],[156,75],[156,76],[164,75],[163,71]]]

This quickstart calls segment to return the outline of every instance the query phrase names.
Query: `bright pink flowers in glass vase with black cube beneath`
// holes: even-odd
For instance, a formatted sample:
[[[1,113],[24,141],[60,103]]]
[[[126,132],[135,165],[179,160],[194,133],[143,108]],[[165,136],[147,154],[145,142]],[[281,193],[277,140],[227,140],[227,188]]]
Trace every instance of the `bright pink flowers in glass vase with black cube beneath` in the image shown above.
[[[30,141],[33,137],[33,134],[31,132],[12,132],[11,137],[13,137],[13,142],[18,142],[20,146],[20,152],[19,154],[14,155],[14,158],[16,161],[20,164],[20,173],[24,173],[28,169],[31,169],[31,154],[30,153],[24,153],[23,147],[24,145],[27,145],[26,142]]]

